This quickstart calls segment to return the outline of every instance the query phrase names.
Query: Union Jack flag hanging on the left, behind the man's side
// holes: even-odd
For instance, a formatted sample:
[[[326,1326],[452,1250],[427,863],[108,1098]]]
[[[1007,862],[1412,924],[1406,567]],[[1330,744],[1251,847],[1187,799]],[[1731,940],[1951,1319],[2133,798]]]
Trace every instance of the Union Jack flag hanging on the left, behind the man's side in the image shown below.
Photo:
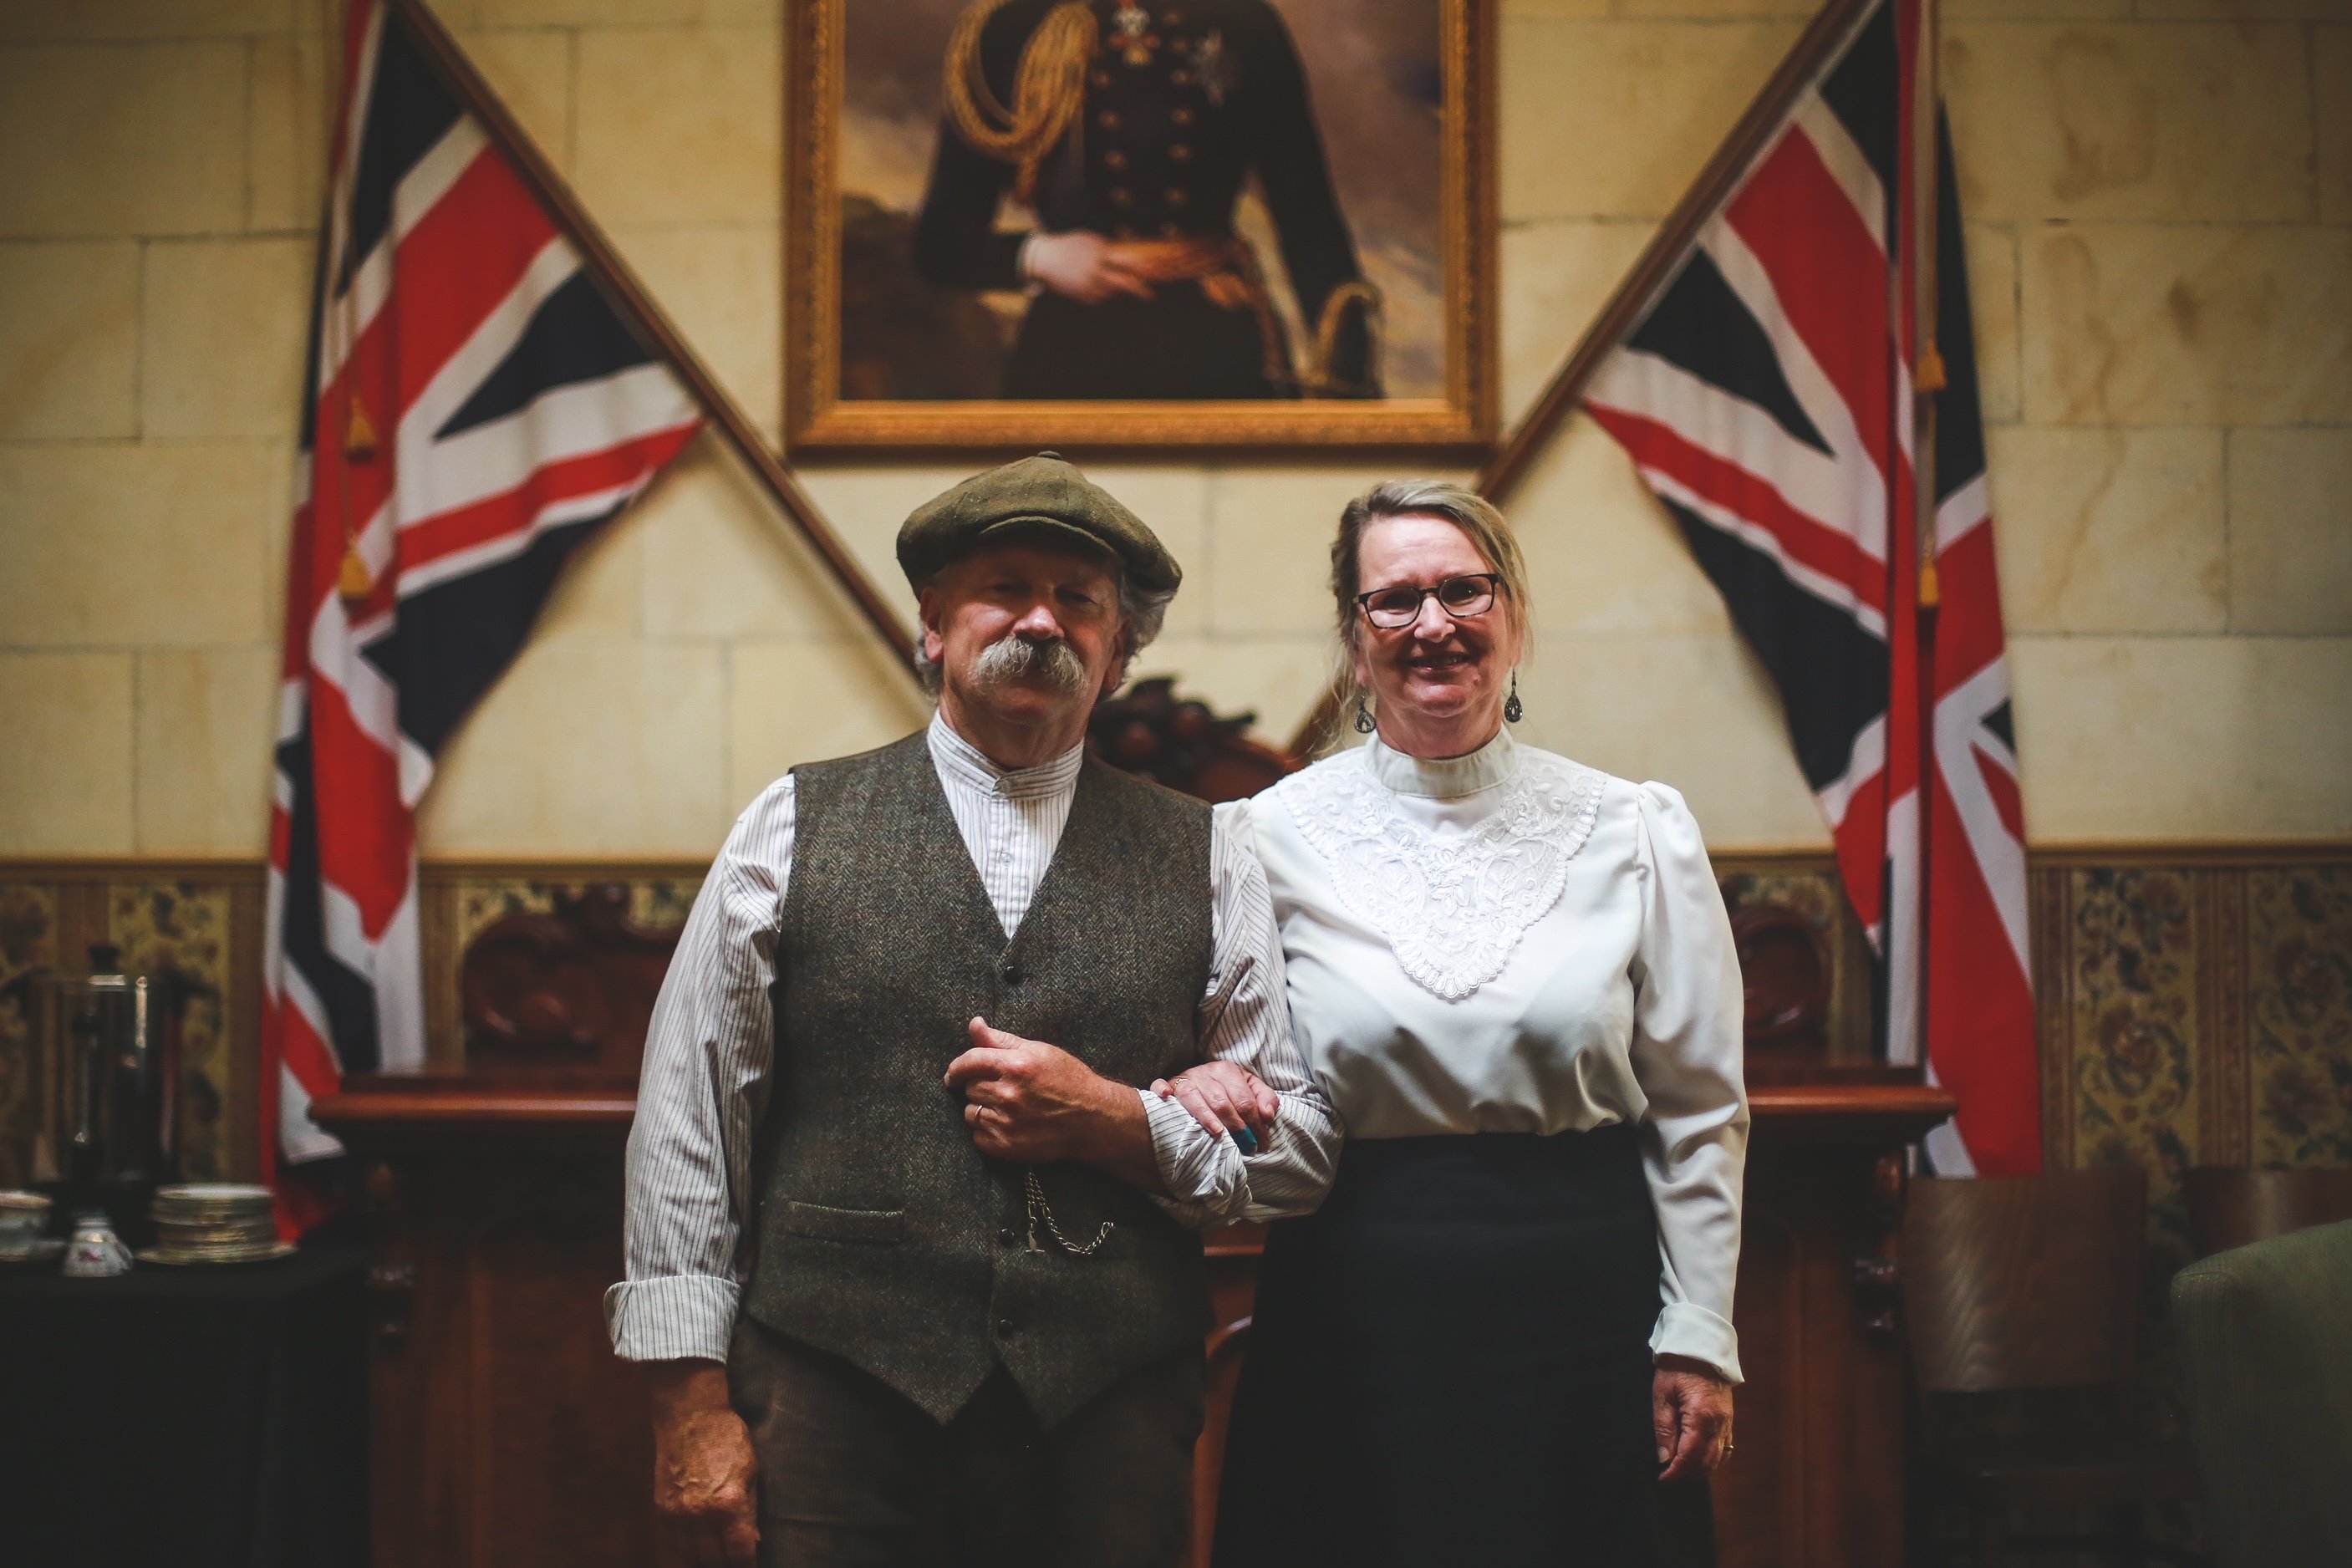
[[[308,1114],[341,1074],[423,1063],[433,762],[699,425],[397,7],[353,0],[343,38],[270,804],[273,1175],[341,1152]]]

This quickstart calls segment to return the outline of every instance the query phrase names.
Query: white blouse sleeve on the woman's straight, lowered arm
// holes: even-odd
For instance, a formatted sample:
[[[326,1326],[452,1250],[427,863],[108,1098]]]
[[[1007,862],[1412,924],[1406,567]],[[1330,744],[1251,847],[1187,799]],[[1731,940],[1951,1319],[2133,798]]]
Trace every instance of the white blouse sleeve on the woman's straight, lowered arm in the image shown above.
[[[1691,809],[1661,783],[1644,783],[1637,797],[1632,1074],[1649,1100],[1642,1157],[1663,1260],[1663,1309],[1649,1347],[1705,1361],[1738,1382],[1731,1281],[1748,1164],[1740,961]]]

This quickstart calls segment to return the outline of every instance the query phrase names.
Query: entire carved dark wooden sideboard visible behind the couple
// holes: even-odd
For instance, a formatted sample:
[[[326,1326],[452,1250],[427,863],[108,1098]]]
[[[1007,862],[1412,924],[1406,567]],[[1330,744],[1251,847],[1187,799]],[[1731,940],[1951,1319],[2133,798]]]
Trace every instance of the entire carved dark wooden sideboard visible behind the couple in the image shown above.
[[[1169,682],[1103,703],[1089,745],[1207,799],[1296,766]],[[369,1171],[376,1568],[652,1561],[644,1396],[600,1302],[621,1276],[621,1150],[675,931],[626,910],[626,889],[595,886],[492,924],[461,961],[466,1067],[355,1077],[313,1107]],[[1882,1568],[1905,1530],[1903,1145],[1952,1103],[1830,1056],[1830,952],[1802,912],[1733,900],[1733,936],[1755,1135],[1719,1561]],[[1209,1237],[1202,1559],[1261,1241]]]

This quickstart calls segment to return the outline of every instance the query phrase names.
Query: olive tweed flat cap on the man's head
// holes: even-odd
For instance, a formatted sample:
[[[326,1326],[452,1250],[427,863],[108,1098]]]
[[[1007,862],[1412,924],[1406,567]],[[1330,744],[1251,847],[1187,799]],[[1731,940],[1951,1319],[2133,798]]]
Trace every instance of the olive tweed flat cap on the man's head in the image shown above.
[[[1176,592],[1183,567],[1117,496],[1065,463],[1058,451],[976,473],[946,496],[915,508],[898,529],[898,567],[922,590],[941,567],[990,534],[1063,531],[1110,550],[1145,592]]]

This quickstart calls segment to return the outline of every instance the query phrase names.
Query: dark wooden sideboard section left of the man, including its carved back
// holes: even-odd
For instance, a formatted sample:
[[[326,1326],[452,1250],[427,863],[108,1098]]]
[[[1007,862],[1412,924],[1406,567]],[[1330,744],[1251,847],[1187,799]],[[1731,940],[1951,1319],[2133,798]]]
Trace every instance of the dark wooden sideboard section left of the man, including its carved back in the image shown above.
[[[654,1561],[644,1389],[600,1302],[675,945],[619,884],[499,919],[459,969],[466,1067],[313,1105],[367,1168],[381,1568]]]

